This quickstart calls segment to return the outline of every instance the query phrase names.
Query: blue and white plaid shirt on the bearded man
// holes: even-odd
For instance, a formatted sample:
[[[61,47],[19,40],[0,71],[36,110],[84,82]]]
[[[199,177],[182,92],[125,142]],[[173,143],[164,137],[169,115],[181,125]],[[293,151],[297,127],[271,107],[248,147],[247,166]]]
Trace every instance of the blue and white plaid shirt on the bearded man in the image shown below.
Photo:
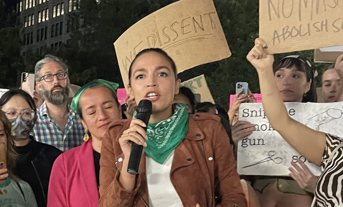
[[[79,116],[69,106],[68,109],[68,122],[63,134],[55,120],[48,115],[46,102],[37,108],[38,119],[32,130],[35,140],[62,151],[80,146],[83,143],[84,128]]]

